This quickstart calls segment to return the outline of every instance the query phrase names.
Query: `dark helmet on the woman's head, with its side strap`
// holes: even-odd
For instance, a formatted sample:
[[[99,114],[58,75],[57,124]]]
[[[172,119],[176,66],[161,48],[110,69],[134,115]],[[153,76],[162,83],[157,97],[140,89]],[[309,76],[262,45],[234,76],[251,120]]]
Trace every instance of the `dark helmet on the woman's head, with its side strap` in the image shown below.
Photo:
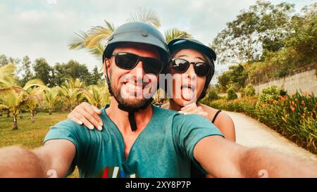
[[[204,89],[201,92],[198,99],[204,98],[209,83],[211,82],[211,78],[215,73],[215,64],[213,63],[216,60],[215,51],[213,51],[213,49],[211,49],[209,46],[206,46],[202,44],[200,41],[197,41],[196,39],[174,39],[173,41],[170,41],[168,43],[168,49],[170,50],[170,53],[174,53],[175,51],[178,51],[180,49],[194,49],[201,53],[204,53],[204,55],[207,57],[207,60],[209,60],[207,64],[211,66],[211,70],[209,74],[206,76]]]

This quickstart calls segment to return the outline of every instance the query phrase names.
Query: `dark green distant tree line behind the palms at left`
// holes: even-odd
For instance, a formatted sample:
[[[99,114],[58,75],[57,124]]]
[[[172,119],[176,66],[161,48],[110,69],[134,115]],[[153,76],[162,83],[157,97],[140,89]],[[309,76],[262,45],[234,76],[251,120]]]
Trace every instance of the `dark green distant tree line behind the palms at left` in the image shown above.
[[[25,56],[22,60],[0,55],[0,67],[13,63],[19,66],[17,70],[17,83],[24,87],[30,79],[41,79],[47,87],[61,86],[66,79],[80,79],[87,86],[99,84],[102,72],[97,66],[89,72],[87,65],[80,64],[76,60],[69,60],[68,63],[55,63],[51,66],[45,58],[37,58],[34,61]]]

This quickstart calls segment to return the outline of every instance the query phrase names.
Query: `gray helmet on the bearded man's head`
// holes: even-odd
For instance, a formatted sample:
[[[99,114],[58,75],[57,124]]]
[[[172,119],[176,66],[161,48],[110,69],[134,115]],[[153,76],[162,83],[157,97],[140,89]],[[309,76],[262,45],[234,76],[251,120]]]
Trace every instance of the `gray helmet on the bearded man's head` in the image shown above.
[[[159,32],[155,27],[147,23],[125,23],[113,31],[111,36],[108,38],[106,49],[102,60],[111,57],[113,49],[116,48],[116,44],[133,42],[141,44],[150,44],[156,46],[159,49],[161,60],[163,63],[168,63],[169,52],[163,34]]]

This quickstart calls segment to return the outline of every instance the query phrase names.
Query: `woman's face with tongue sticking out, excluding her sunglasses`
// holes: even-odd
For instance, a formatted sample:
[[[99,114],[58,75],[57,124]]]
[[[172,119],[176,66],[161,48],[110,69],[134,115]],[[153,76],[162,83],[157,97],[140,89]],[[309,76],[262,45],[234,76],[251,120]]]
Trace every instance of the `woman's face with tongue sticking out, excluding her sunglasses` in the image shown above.
[[[182,58],[189,63],[204,62],[204,56],[193,49],[182,49],[178,51],[173,58]],[[201,92],[204,89],[206,77],[199,77],[194,71],[194,65],[190,64],[184,73],[178,73],[173,68],[169,68],[169,72],[173,75],[173,101],[180,106],[196,103]]]

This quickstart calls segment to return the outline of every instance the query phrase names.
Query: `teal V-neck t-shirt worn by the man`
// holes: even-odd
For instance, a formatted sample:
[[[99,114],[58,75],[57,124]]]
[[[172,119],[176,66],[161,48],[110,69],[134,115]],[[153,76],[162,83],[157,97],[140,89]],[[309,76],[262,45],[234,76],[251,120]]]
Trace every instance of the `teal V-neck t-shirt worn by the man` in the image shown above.
[[[74,143],[76,154],[68,174],[77,165],[80,177],[190,177],[196,143],[220,131],[200,115],[182,115],[153,106],[153,116],[139,134],[125,158],[125,143],[116,124],[101,111],[101,132],[64,120],[51,127],[44,142],[67,139]],[[206,172],[204,172],[206,173]]]

